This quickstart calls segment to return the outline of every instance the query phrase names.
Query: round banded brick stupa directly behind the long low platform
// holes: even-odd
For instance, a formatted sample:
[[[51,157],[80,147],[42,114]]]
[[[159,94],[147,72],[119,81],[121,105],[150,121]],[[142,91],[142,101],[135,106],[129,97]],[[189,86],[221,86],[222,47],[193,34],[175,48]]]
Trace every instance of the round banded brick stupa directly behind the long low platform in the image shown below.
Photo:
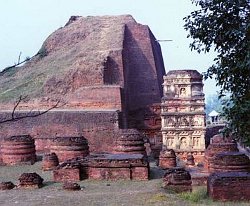
[[[143,135],[137,129],[120,129],[117,132],[115,153],[146,154]]]

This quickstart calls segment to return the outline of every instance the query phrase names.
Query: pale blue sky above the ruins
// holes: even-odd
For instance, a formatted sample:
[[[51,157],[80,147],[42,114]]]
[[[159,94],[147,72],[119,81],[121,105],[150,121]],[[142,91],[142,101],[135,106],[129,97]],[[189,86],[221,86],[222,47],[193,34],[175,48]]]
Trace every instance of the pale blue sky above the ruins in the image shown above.
[[[205,72],[215,57],[191,51],[183,17],[197,9],[191,0],[0,0],[0,70],[38,52],[45,39],[70,16],[131,14],[148,25],[161,42],[166,72],[196,69]],[[204,82],[207,96],[216,93],[215,81]]]

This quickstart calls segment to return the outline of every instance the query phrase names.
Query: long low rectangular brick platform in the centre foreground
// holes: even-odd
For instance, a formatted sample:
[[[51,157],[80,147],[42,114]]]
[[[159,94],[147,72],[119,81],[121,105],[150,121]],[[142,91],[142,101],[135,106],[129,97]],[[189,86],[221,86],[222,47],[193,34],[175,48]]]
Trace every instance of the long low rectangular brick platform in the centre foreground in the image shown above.
[[[148,180],[149,178],[149,163],[143,155],[107,153],[67,160],[54,171],[54,178],[74,181],[76,172],[74,174],[71,172],[72,175],[70,176],[68,171],[76,168],[76,166],[80,168],[80,179]]]

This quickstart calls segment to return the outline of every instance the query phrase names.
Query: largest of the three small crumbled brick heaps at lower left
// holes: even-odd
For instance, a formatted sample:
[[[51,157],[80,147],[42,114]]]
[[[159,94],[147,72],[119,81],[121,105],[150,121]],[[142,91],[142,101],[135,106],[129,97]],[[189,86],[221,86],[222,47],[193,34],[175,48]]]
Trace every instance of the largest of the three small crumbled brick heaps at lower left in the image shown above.
[[[22,188],[40,188],[43,186],[43,178],[37,173],[23,173],[19,179],[18,187]]]

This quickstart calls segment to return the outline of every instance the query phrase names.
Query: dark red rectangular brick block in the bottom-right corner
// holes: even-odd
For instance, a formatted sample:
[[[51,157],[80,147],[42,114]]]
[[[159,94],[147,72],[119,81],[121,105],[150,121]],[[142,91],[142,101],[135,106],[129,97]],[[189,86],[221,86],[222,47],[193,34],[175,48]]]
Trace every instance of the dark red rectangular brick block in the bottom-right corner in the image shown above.
[[[213,173],[208,178],[207,191],[210,198],[221,201],[250,200],[250,173]]]

